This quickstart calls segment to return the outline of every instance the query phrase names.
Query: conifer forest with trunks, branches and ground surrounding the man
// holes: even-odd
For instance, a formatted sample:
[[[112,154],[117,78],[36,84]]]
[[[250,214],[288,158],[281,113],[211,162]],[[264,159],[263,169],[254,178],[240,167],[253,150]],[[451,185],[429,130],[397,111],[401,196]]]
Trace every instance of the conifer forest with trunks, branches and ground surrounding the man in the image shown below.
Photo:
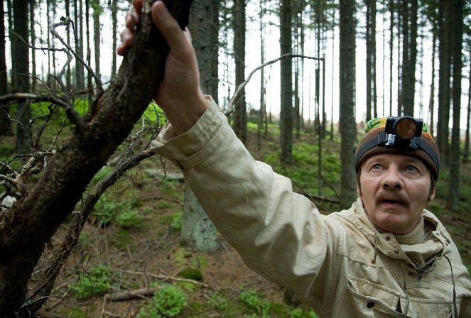
[[[1,3],[0,317],[315,317],[245,268],[178,170],[148,150],[165,118],[142,83],[156,87],[166,53],[143,20],[138,43],[153,53],[117,57],[129,9]],[[470,9],[193,0],[188,27],[203,91],[323,213],[356,199],[365,121],[425,119],[443,165],[430,209],[469,268]]]

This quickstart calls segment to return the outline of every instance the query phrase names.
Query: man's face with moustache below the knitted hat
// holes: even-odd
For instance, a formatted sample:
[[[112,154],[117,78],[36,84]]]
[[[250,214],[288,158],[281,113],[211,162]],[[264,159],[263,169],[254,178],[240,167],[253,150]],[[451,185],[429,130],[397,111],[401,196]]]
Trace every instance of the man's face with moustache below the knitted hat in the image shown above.
[[[418,158],[379,154],[360,167],[357,192],[372,222],[384,231],[407,234],[435,197],[431,174]]]

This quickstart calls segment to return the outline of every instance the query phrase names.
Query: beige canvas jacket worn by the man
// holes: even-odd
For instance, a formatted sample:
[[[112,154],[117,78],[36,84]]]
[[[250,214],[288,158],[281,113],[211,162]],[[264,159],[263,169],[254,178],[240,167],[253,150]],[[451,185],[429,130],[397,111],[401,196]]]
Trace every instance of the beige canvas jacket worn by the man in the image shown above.
[[[322,215],[291,181],[251,157],[217,105],[187,133],[168,125],[153,141],[173,160],[224,238],[247,265],[288,287],[320,317],[471,317],[471,283],[443,225],[400,245],[360,220],[362,202]],[[421,260],[431,263],[418,268]],[[453,274],[452,274],[453,273]]]

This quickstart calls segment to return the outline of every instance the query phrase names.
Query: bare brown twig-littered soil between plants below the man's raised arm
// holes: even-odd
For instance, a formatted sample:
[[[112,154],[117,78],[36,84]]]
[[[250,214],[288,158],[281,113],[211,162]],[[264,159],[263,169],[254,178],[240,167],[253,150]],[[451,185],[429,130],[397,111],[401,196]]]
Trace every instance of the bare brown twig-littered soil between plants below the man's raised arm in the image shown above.
[[[257,148],[256,145],[252,147]],[[269,150],[265,143],[259,156]],[[163,283],[181,284],[179,273],[188,268],[199,269],[202,280],[183,285],[189,305],[177,317],[244,317],[250,311],[239,305],[238,299],[240,292],[248,290],[257,290],[264,299],[282,304],[284,292],[281,287],[247,268],[222,236],[222,247],[213,253],[192,251],[180,241],[180,233],[172,228],[171,222],[183,211],[185,184],[162,180],[158,173],[149,169],[162,169],[158,158],[146,160],[107,191],[107,197],[117,202],[137,202],[134,209],[146,216],[144,228],[123,229],[115,222],[102,226],[97,224],[96,218],[90,217],[82,230],[80,246],[63,266],[50,300],[40,314],[43,317],[136,317],[151,297],[120,302],[109,301],[107,297],[118,290],[140,290]],[[166,163],[165,169],[178,172],[171,163]],[[98,202],[95,210],[101,207],[102,203]],[[58,231],[46,255],[58,246],[66,230],[64,226]],[[98,264],[112,270],[112,290],[85,300],[77,299],[77,294],[70,289],[77,280],[77,273],[87,275]],[[41,264],[38,270],[40,267]],[[222,292],[235,305],[229,305],[225,311],[208,307],[205,303],[214,292]]]

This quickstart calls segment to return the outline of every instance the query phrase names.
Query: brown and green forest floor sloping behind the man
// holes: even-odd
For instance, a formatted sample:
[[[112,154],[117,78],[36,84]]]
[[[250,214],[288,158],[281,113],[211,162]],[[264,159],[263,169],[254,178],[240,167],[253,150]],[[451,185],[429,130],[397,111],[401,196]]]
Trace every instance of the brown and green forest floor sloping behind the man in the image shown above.
[[[276,137],[261,141],[259,150],[257,141],[256,134],[251,134],[248,148],[256,159],[264,160],[276,148]],[[186,294],[187,305],[176,317],[314,317],[302,305],[286,305],[283,290],[249,270],[222,237],[223,247],[215,253],[199,253],[186,247],[178,227],[184,183],[162,180],[150,172],[161,167],[158,158],[146,160],[119,180],[107,192],[107,199],[97,204],[95,209],[99,210],[110,209],[110,202],[121,202],[111,204],[117,215],[123,214],[121,210],[126,206],[144,219],[132,226],[123,226],[122,222],[120,226],[114,221],[102,226],[97,223],[97,216],[90,218],[80,236],[80,247],[63,266],[52,297],[41,311],[44,317],[136,317],[141,308],[151,303],[151,297],[111,301],[109,296],[117,291],[154,288],[164,283],[178,285]],[[178,172],[170,163],[166,169]],[[462,175],[471,175],[470,164],[462,169]],[[439,204],[434,207],[443,206],[440,202],[447,193],[440,191],[445,189],[445,184],[438,185]],[[469,184],[467,189],[471,189]],[[467,265],[471,265],[469,194],[465,199],[470,204],[462,204],[468,207],[467,211],[439,213]],[[330,208],[335,211],[335,207]],[[65,233],[65,227],[61,232]],[[54,238],[53,246],[61,235]],[[102,270],[99,275],[107,276],[104,278],[107,287],[104,292],[97,287],[94,290],[97,295],[81,298],[80,292],[86,289],[97,268]],[[199,270],[202,278],[185,280],[182,273],[188,269]],[[77,280],[80,273],[81,280]]]

